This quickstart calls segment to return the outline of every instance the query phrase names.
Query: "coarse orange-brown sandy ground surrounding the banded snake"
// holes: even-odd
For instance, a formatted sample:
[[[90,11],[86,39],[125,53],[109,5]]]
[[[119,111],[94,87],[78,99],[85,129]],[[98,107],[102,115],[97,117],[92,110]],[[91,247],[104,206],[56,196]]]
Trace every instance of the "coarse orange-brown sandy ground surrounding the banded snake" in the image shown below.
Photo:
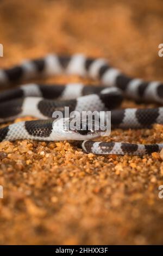
[[[0,66],[49,52],[84,52],[108,58],[130,76],[163,80],[162,10],[159,0],[1,0]],[[46,80],[72,81],[91,82],[76,76]],[[161,125],[118,129],[102,139],[155,143],[163,141],[162,132]],[[0,244],[162,243],[159,154],[96,156],[76,143],[25,140],[0,143],[0,159]]]

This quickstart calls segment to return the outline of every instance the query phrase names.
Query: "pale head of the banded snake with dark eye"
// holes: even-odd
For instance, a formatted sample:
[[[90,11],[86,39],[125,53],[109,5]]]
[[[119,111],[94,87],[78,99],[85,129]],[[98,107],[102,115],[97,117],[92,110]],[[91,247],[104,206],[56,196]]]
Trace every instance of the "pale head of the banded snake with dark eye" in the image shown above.
[[[86,119],[61,118],[53,122],[53,131],[60,140],[83,141],[103,136],[106,127],[95,120],[90,122]]]

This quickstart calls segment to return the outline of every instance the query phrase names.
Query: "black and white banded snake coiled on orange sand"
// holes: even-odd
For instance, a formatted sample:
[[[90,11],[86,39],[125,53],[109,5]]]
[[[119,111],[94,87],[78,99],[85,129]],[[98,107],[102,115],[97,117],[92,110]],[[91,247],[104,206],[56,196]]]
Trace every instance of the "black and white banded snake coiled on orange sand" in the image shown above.
[[[83,83],[40,84],[31,80],[60,74],[88,77],[96,86]],[[14,88],[24,81],[30,81]],[[38,141],[80,141],[85,153],[97,155],[145,155],[159,152],[163,143],[133,144],[124,142],[93,141],[103,136],[103,129],[89,128],[88,120],[76,120],[64,116],[65,107],[70,112],[111,112],[111,128],[141,129],[153,124],[163,124],[163,107],[124,108],[124,97],[141,102],[163,103],[163,83],[144,81],[123,74],[104,58],[90,58],[84,54],[72,56],[48,54],[45,57],[24,60],[20,65],[0,70],[0,123],[17,117],[32,115],[37,120],[20,121],[0,129],[0,142],[17,139]],[[53,118],[60,111],[62,118]],[[80,129],[65,129],[73,120]],[[103,118],[102,118],[103,119]],[[105,118],[104,118],[105,119]],[[99,120],[100,121],[100,120]],[[85,129],[83,129],[85,127]]]

